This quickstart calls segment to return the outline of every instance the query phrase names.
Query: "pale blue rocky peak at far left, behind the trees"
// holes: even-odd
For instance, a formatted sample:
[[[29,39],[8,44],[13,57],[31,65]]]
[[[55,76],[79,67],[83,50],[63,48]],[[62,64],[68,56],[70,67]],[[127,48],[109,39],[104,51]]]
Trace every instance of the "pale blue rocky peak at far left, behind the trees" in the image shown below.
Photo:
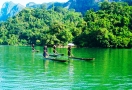
[[[15,4],[12,1],[5,2],[0,10],[0,21],[5,21],[7,18],[16,15],[23,8],[25,7],[21,4]]]

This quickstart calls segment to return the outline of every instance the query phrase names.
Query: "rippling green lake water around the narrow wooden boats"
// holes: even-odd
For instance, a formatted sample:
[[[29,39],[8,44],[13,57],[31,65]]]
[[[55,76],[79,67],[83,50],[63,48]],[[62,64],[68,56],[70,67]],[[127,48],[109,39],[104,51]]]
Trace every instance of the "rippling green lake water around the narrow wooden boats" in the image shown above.
[[[130,90],[132,49],[72,48],[69,63],[44,60],[29,46],[0,46],[0,90]],[[49,53],[52,49],[48,48]],[[67,59],[67,49],[57,48]]]

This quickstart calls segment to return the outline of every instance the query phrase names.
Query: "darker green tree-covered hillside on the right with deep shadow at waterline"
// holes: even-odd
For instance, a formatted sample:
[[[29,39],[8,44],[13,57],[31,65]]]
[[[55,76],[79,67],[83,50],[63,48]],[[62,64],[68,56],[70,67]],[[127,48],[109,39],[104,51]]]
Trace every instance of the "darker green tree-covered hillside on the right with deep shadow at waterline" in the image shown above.
[[[100,4],[101,10],[86,12],[84,20],[87,27],[74,42],[90,47],[131,47],[132,6],[121,2]]]

